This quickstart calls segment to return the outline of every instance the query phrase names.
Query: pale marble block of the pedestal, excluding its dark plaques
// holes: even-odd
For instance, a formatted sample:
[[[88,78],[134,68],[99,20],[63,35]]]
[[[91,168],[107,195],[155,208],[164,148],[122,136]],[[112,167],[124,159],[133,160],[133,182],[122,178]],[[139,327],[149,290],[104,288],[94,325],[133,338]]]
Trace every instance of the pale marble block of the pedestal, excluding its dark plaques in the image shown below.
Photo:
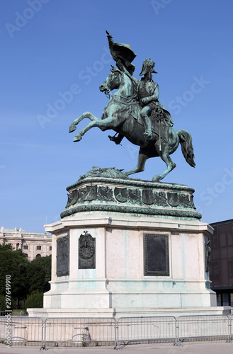
[[[50,309],[210,307],[205,272],[210,227],[198,220],[79,215],[46,227],[52,232]],[[79,269],[79,237],[96,240],[96,268]],[[144,275],[144,235],[168,236],[169,275]],[[69,275],[57,276],[57,240],[69,237]]]

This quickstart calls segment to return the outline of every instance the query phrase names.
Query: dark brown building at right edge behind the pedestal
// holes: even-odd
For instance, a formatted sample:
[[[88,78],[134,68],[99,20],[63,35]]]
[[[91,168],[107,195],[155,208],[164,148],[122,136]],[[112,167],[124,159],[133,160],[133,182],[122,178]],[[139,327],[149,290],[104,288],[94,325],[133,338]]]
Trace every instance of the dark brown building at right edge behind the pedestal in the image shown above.
[[[211,289],[217,305],[233,307],[233,219],[210,225],[215,229],[210,244]]]

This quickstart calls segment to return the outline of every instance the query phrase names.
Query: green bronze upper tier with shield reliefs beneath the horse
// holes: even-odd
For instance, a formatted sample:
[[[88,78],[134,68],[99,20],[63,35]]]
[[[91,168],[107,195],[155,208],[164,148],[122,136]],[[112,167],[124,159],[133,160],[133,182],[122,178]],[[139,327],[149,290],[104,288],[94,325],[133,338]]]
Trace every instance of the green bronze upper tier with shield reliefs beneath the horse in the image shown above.
[[[128,178],[114,168],[95,166],[69,185],[67,191],[68,201],[62,218],[82,212],[181,219],[201,217],[193,204],[193,188]]]

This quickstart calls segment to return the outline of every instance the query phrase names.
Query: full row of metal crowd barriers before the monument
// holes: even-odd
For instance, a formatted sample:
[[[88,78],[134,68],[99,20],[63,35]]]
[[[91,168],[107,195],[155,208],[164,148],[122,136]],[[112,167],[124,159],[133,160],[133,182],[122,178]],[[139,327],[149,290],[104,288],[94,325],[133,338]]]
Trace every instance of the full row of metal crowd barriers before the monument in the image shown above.
[[[233,343],[233,315],[142,316],[86,318],[47,318],[0,316],[0,341],[33,342],[47,346],[114,345],[122,349],[127,343],[144,341],[171,342],[183,346],[193,338],[225,339]]]

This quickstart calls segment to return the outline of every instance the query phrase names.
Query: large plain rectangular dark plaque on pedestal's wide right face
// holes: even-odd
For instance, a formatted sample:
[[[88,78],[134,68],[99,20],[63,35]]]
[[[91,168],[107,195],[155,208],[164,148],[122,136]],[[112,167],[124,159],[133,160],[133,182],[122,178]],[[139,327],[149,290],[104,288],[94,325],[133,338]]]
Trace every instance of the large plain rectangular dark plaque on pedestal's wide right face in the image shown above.
[[[169,276],[169,235],[144,234],[144,275]]]

